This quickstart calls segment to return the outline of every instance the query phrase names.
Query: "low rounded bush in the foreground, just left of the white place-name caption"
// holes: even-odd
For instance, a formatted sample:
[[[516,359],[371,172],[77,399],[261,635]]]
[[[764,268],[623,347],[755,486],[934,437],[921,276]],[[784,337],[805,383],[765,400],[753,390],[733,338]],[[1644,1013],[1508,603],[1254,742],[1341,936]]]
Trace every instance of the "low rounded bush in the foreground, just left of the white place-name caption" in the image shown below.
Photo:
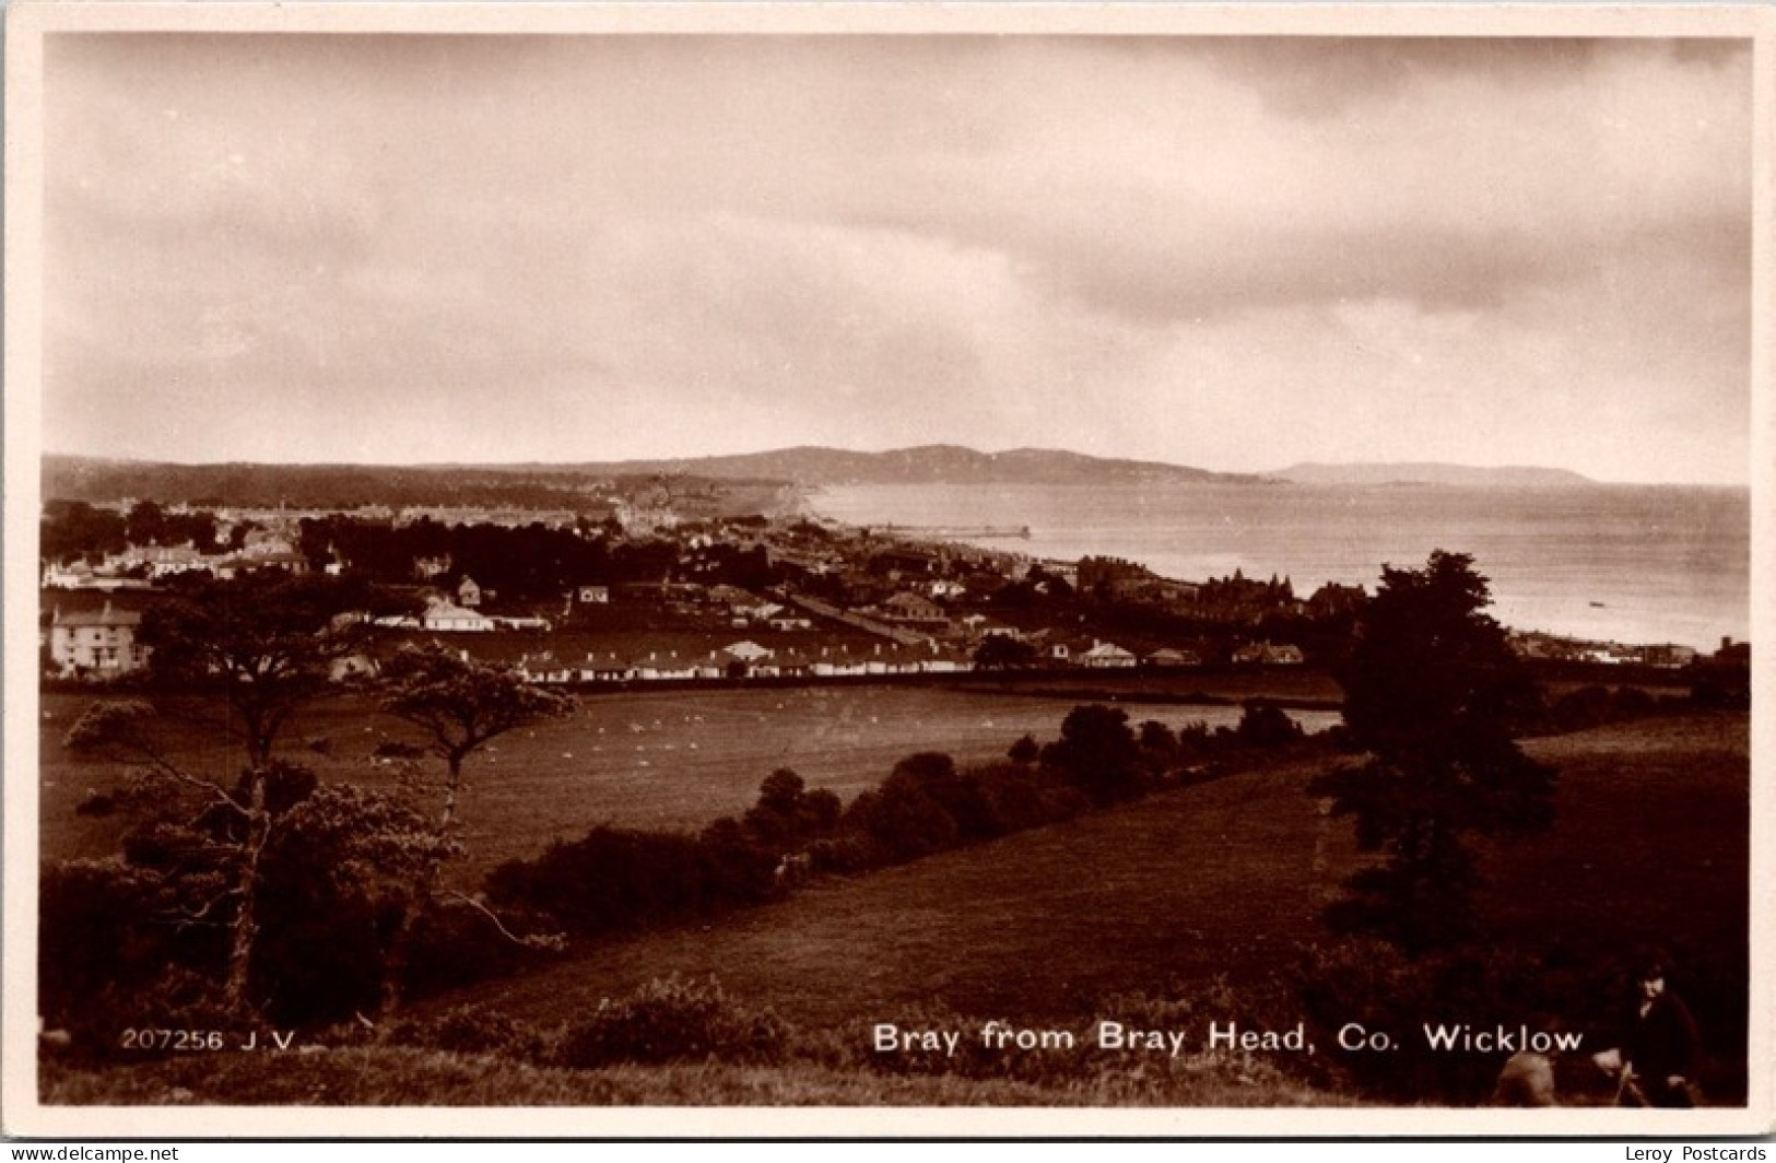
[[[728,1000],[714,978],[654,978],[627,998],[604,1001],[570,1025],[559,1064],[602,1067],[616,1062],[781,1062],[789,1026],[771,1010]]]

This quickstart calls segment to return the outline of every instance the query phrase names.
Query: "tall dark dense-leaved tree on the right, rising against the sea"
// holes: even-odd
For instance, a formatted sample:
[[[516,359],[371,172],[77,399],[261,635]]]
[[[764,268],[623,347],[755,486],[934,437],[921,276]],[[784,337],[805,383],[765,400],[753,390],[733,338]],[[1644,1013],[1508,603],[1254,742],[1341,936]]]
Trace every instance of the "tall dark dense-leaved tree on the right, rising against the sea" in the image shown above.
[[[1471,838],[1545,829],[1556,772],[1513,732],[1538,703],[1504,629],[1487,614],[1488,582],[1465,554],[1433,552],[1421,570],[1384,568],[1344,662],[1344,724],[1366,758],[1314,779],[1312,792],[1357,820],[1384,859],[1355,874],[1328,911],[1408,950],[1471,930],[1478,884]]]

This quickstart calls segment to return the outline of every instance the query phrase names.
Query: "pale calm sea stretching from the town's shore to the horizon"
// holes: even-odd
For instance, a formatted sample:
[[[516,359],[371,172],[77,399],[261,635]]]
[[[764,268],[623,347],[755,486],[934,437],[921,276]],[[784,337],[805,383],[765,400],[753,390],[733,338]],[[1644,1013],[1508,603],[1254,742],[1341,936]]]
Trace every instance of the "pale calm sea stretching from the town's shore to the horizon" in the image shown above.
[[[1028,529],[980,545],[1138,561],[1163,577],[1288,577],[1375,593],[1382,566],[1474,558],[1494,618],[1602,643],[1714,652],[1751,629],[1746,488],[1595,485],[840,485],[808,508],[854,526]]]

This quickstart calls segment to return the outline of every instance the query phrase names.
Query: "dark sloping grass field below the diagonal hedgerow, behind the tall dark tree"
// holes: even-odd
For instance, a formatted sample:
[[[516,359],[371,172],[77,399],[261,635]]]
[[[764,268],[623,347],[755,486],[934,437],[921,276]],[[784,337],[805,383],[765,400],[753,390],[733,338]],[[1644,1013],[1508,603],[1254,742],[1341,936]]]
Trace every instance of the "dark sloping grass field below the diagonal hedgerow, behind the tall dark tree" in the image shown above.
[[[1742,962],[1746,717],[1653,719],[1534,749],[1561,765],[1559,820],[1485,861],[1483,907],[1501,946],[1607,959],[1657,941]],[[1327,939],[1320,909],[1359,859],[1350,824],[1304,794],[1318,767],[1229,776],[828,881],[714,927],[609,939],[472,1000],[561,1023],[654,977],[714,975],[799,1026],[863,1037],[867,1023],[931,1007],[1087,1023],[1114,1017],[1101,1007],[1122,993],[1188,996],[1217,977],[1259,985],[1300,945]],[[1693,1003],[1724,1016],[1712,1028],[1728,1040],[1732,1014],[1742,1021],[1744,998]]]

